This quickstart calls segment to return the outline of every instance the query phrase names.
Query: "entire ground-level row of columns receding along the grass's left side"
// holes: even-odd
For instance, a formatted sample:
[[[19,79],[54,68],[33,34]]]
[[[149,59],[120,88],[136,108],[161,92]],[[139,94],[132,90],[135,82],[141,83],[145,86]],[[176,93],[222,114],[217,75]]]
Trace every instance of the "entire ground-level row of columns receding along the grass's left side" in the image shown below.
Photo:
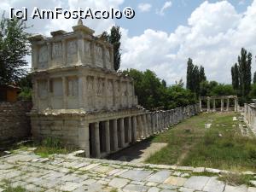
[[[102,158],[199,113],[198,105],[90,123],[87,157]]]

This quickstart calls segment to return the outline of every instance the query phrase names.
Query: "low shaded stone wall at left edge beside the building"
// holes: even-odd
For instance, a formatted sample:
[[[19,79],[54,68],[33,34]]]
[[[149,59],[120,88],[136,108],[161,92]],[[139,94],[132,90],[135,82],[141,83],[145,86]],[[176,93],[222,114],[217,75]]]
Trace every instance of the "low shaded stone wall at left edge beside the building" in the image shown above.
[[[30,136],[30,119],[26,116],[31,102],[0,102],[0,148]]]

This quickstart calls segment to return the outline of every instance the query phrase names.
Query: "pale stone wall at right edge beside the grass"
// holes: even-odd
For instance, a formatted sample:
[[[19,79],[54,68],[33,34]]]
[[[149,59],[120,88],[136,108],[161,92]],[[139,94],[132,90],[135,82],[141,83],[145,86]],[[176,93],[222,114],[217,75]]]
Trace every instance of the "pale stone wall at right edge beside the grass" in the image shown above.
[[[256,105],[254,103],[244,104],[243,118],[247,126],[250,127],[256,135]]]

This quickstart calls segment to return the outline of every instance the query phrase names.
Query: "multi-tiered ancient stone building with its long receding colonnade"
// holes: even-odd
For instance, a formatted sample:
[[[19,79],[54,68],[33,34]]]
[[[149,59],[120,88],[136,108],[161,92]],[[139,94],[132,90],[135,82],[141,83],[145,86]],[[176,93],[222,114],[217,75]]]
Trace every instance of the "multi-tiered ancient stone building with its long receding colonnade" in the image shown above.
[[[113,46],[81,21],[73,32],[34,35],[32,137],[60,138],[102,158],[199,111],[197,105],[149,113],[131,78],[113,70]]]

